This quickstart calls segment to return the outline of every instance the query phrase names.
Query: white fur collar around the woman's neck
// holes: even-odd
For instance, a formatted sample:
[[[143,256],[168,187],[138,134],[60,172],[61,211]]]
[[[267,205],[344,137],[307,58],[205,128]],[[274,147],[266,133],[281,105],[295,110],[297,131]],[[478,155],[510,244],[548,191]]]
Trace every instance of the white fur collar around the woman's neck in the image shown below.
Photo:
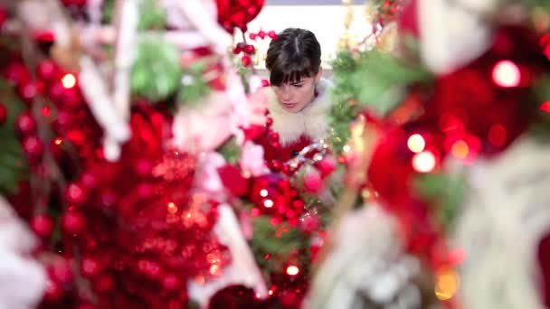
[[[299,113],[289,113],[282,108],[270,89],[268,108],[273,118],[273,131],[279,133],[280,144],[289,145],[297,141],[300,136],[308,136],[318,140],[327,135],[327,114],[332,107],[330,88],[332,81],[321,79],[316,90],[318,96]]]

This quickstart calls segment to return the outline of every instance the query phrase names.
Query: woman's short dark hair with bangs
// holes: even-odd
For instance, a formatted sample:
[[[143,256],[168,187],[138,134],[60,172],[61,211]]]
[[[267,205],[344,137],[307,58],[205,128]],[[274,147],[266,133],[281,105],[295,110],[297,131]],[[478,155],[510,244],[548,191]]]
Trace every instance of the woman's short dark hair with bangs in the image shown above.
[[[270,70],[271,85],[297,82],[318,73],[321,46],[312,32],[287,28],[270,42],[265,64]]]

